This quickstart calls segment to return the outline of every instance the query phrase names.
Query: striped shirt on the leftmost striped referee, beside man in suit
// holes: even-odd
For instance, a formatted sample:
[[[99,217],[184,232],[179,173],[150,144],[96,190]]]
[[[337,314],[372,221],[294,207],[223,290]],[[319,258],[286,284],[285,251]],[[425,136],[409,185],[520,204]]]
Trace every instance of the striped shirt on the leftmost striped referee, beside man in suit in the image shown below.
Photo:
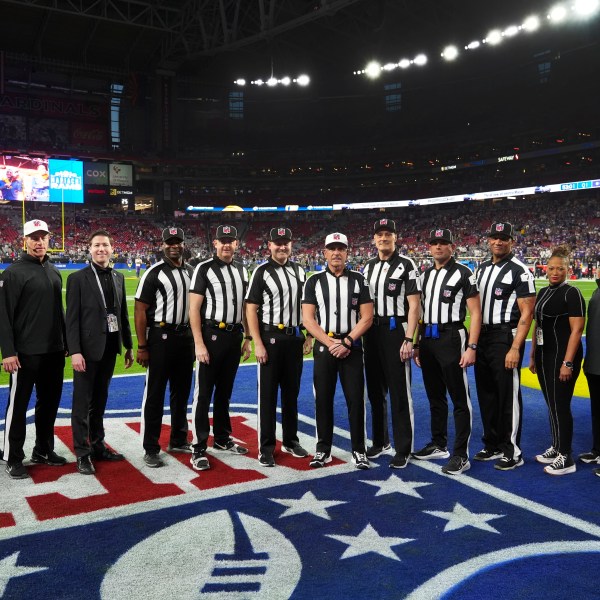
[[[185,262],[177,267],[166,257],[146,270],[135,299],[149,305],[148,324],[186,325],[189,322],[191,278],[192,267]]]

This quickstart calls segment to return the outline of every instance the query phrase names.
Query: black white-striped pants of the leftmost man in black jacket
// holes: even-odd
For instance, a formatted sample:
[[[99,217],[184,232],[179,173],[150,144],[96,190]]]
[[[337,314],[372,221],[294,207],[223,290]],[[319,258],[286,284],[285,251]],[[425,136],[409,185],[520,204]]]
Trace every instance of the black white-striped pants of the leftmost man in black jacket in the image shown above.
[[[11,374],[4,429],[4,460],[23,462],[27,407],[35,385],[35,448],[41,454],[54,450],[54,423],[62,394],[64,352],[19,354],[21,368]]]

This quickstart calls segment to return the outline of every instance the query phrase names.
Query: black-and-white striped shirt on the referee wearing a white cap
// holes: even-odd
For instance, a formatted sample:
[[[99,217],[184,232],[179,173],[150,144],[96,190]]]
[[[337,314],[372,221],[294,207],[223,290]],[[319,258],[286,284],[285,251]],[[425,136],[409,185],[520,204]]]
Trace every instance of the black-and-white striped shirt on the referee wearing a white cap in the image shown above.
[[[372,304],[368,281],[361,273],[344,269],[336,277],[329,269],[309,277],[302,304],[316,306],[316,320],[325,333],[350,333],[360,320],[362,304]]]

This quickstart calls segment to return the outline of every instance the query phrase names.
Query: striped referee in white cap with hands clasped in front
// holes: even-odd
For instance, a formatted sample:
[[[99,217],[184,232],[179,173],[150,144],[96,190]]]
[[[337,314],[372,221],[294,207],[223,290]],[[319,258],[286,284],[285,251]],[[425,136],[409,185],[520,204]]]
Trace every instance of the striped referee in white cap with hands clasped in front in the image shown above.
[[[325,238],[324,271],[309,277],[302,297],[302,320],[315,338],[313,388],[317,421],[317,451],[313,468],[331,462],[333,399],[339,376],[348,406],[352,462],[368,469],[365,453],[365,378],[361,336],[373,322],[373,299],[361,273],[346,268],[348,238]]]

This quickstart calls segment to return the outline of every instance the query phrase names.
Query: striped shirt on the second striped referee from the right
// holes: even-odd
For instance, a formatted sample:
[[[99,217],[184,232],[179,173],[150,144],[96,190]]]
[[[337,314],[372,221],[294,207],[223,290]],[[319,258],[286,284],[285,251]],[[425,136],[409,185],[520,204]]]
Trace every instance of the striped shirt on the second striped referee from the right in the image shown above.
[[[473,271],[451,258],[441,269],[429,267],[421,275],[423,323],[463,323],[467,316],[467,299],[476,296]]]

